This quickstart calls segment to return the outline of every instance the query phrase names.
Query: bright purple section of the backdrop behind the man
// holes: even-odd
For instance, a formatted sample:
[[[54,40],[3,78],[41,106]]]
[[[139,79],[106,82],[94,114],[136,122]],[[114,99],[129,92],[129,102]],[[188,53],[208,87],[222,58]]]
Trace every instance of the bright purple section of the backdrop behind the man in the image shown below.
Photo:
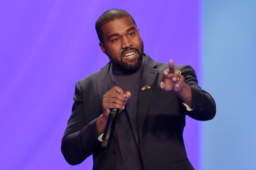
[[[69,165],[60,150],[75,82],[108,62],[94,28],[111,8],[135,19],[144,52],[189,64],[200,84],[200,1],[1,1],[0,169],[91,169]],[[187,117],[188,158],[200,169],[199,122]],[[167,153],[168,154],[168,153]]]

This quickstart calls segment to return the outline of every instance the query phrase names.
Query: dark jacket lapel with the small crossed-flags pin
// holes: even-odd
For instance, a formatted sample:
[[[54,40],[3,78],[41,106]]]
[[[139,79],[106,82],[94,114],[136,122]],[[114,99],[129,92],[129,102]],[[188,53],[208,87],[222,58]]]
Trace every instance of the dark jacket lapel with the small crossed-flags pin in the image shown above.
[[[148,105],[151,99],[154,82],[159,71],[158,69],[153,68],[155,66],[156,66],[155,60],[151,59],[149,56],[146,55],[146,61],[141,74],[140,89],[138,92],[138,99],[137,99],[137,124],[138,124],[139,140],[141,139],[141,136],[142,136],[144,120],[145,120]],[[144,86],[149,86],[151,88],[141,90],[141,88],[143,88]]]

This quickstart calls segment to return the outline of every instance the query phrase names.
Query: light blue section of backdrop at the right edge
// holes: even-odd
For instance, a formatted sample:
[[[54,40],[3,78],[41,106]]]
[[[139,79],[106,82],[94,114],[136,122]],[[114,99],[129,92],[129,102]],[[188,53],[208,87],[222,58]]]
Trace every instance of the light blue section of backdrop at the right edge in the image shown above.
[[[205,0],[203,72],[217,114],[202,125],[202,169],[255,169],[256,1]]]

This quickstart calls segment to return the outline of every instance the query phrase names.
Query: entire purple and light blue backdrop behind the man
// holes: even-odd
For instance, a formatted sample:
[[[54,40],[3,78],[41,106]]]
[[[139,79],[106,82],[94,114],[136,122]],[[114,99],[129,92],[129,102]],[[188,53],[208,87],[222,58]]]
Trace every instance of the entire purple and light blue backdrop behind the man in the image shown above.
[[[75,82],[108,62],[94,28],[111,8],[127,10],[159,62],[189,64],[216,100],[213,120],[187,117],[195,169],[253,169],[256,1],[1,1],[0,169],[92,169],[60,150]],[[168,153],[167,153],[168,154]]]

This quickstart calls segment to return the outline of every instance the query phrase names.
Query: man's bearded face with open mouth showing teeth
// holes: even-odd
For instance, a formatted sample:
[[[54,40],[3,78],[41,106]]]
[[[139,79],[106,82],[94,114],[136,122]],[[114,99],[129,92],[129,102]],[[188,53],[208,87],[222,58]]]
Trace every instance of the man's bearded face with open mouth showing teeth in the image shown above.
[[[124,17],[102,26],[101,50],[108,55],[114,67],[134,71],[140,68],[143,42],[138,28],[130,17]]]

